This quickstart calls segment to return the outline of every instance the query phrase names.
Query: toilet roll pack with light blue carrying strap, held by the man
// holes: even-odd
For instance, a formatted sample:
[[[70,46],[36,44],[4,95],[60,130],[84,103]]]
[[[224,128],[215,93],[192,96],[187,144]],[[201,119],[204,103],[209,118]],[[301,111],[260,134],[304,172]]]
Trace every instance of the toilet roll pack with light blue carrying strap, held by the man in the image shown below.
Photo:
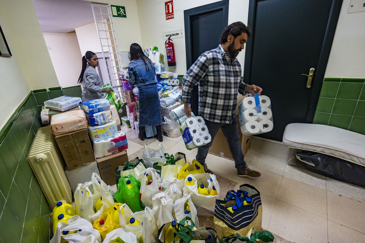
[[[271,102],[266,95],[246,97],[238,109],[242,134],[267,133],[273,129]]]

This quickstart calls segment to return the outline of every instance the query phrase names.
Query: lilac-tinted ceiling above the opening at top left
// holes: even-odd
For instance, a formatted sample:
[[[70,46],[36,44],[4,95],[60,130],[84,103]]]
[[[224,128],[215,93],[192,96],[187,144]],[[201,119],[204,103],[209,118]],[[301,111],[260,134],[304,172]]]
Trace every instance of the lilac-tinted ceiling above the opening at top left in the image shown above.
[[[42,32],[67,33],[94,22],[90,1],[32,0]]]

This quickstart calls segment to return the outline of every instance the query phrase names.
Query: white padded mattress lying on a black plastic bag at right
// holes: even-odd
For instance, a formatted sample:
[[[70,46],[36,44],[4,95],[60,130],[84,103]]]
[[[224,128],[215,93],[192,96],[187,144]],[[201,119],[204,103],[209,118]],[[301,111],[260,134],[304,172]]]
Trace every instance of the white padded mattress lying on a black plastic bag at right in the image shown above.
[[[283,144],[328,154],[365,166],[365,135],[334,126],[292,123],[284,131]]]

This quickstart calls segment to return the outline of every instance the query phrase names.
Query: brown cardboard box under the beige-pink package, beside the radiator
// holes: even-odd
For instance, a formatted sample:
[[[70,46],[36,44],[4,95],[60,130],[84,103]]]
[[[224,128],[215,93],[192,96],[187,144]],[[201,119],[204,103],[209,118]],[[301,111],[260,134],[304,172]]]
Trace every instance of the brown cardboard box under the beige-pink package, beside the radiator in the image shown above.
[[[55,136],[69,171],[95,161],[87,129]]]

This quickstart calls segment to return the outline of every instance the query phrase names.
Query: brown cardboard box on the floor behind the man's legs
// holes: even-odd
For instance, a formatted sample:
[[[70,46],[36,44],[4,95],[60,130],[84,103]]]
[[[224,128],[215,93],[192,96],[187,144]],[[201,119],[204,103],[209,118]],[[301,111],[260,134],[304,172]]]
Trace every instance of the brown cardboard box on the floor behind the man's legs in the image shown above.
[[[239,133],[239,140],[241,141],[242,152],[243,155],[245,155],[250,148],[251,136],[246,136],[241,133],[241,127],[239,125],[239,122],[238,122],[238,133]],[[209,152],[233,160],[231,151],[228,148],[227,139],[226,137],[224,137],[224,134],[221,129],[218,130],[218,133],[213,140],[213,144],[209,148]]]

